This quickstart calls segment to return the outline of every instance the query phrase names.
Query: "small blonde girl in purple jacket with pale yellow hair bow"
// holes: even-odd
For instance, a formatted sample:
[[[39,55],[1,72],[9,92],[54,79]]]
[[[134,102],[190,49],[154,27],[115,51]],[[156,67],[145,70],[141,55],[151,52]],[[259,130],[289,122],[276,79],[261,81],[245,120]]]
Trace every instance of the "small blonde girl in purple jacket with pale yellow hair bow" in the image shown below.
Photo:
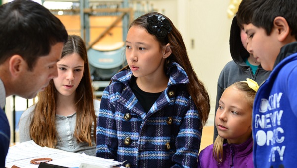
[[[247,78],[223,92],[215,117],[219,136],[200,152],[198,168],[253,168],[251,122],[258,88]]]

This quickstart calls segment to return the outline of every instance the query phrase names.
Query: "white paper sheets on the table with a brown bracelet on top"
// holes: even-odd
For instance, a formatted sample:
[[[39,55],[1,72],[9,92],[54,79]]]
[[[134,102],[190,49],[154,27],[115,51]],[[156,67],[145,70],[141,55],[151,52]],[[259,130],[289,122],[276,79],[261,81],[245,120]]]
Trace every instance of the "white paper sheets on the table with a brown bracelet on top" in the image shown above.
[[[82,163],[101,167],[113,167],[122,164],[122,162],[110,159],[41,147],[31,140],[9,147],[5,167],[11,168],[15,165],[20,168],[38,168],[39,165],[30,163],[32,159],[36,158],[51,158],[52,161],[48,162],[49,164],[69,168],[79,167]]]

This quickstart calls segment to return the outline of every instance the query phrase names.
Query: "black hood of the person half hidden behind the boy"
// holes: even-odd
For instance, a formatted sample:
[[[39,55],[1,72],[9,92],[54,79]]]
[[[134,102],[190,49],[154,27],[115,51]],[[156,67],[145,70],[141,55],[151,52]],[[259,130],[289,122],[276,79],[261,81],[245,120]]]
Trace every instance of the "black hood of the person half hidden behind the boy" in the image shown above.
[[[240,27],[237,24],[236,16],[233,17],[231,28],[230,28],[230,39],[229,39],[229,46],[230,46],[230,54],[233,61],[241,66],[241,67],[248,67],[245,64],[245,59],[249,56],[249,52],[244,48],[241,38],[240,38]]]

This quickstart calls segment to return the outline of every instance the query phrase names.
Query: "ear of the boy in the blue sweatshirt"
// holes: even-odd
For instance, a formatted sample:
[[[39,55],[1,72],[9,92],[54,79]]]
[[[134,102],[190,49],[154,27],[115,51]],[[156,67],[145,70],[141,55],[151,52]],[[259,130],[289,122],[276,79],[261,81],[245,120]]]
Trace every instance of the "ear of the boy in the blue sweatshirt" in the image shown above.
[[[290,27],[287,20],[282,16],[277,16],[274,18],[273,26],[278,31],[278,40],[283,42],[290,34]]]

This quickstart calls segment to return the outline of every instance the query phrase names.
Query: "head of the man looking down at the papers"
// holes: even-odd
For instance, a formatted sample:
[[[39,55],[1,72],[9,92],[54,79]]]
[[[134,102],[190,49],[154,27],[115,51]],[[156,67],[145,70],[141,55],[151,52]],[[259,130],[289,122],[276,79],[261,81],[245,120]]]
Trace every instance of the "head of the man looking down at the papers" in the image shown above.
[[[0,75],[6,94],[32,98],[57,76],[67,31],[48,9],[31,0],[3,4],[0,13]]]

